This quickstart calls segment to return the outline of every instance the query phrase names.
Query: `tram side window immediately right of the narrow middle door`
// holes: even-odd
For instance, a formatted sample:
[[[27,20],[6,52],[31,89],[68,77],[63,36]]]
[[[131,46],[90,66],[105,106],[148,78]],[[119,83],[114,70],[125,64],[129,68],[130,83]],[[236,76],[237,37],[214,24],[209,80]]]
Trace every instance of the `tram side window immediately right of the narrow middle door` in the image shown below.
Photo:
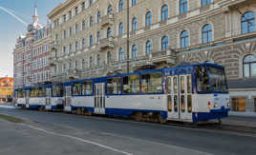
[[[121,82],[120,78],[113,78],[107,80],[107,94],[120,94],[121,92]]]

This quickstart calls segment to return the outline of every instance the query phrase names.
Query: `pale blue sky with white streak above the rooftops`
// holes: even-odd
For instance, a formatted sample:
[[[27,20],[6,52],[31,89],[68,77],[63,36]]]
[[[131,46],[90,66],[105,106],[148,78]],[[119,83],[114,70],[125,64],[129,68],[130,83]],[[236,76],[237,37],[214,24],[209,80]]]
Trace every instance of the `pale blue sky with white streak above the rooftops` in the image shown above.
[[[33,7],[36,4],[39,24],[47,24],[47,14],[65,0],[0,0],[0,77],[13,76],[13,48],[20,34],[25,35],[24,23],[32,23]],[[21,20],[4,10],[11,11]]]

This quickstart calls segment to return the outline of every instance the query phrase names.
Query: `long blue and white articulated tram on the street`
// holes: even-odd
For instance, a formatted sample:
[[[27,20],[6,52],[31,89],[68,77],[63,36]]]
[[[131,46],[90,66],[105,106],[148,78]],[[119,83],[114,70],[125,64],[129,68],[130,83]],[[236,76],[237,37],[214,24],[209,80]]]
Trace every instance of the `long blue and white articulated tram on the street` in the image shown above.
[[[224,67],[213,63],[148,69],[14,91],[18,107],[160,123],[221,122],[230,109]]]

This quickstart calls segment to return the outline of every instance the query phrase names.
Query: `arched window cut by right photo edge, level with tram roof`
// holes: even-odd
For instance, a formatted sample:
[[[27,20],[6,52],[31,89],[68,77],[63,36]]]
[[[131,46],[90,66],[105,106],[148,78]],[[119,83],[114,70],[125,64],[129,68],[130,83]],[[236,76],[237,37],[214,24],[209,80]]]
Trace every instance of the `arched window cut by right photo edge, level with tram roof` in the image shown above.
[[[244,58],[243,66],[245,77],[256,76],[256,56],[246,55]]]

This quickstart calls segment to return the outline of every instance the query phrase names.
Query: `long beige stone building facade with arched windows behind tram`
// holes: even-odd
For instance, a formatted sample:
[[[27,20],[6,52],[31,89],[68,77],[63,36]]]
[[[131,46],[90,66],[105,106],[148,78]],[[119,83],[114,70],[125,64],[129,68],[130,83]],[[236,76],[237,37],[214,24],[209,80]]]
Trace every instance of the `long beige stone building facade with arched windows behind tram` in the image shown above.
[[[254,0],[130,0],[130,71],[214,62],[232,110],[256,111]],[[67,0],[49,13],[53,81],[126,72],[127,1]]]

